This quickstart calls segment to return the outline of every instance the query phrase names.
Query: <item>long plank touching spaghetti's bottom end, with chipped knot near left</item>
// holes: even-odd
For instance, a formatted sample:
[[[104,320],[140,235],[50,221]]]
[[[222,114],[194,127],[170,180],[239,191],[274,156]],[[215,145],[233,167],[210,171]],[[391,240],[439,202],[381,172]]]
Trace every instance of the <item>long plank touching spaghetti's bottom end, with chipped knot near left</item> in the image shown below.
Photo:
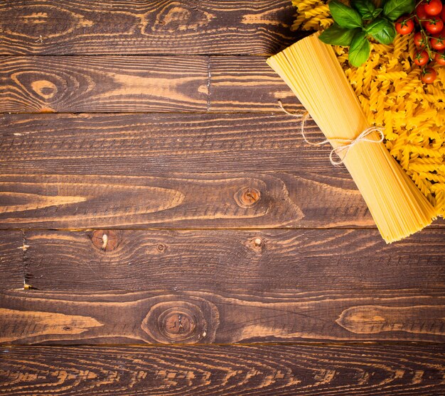
[[[400,290],[444,292],[444,239],[445,229],[392,245],[366,229],[25,231],[24,263],[26,283],[38,290],[397,297]]]

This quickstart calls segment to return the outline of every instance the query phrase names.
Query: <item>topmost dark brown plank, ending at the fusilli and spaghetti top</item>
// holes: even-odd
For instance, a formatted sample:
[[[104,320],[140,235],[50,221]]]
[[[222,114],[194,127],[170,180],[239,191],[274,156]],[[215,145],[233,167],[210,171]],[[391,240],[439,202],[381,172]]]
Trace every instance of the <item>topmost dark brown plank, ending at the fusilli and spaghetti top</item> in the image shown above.
[[[296,40],[287,0],[0,1],[0,54],[268,54]]]

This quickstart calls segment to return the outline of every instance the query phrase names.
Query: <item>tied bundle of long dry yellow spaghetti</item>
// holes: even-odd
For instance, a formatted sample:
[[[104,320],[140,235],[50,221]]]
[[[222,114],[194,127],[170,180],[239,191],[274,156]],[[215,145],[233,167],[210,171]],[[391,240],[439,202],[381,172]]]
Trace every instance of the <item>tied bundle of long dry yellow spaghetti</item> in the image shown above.
[[[308,56],[308,54],[310,54]],[[289,85],[334,148],[354,141],[370,123],[330,45],[315,33],[267,60]],[[379,133],[349,148],[343,163],[387,243],[431,224],[436,210],[391,157]]]

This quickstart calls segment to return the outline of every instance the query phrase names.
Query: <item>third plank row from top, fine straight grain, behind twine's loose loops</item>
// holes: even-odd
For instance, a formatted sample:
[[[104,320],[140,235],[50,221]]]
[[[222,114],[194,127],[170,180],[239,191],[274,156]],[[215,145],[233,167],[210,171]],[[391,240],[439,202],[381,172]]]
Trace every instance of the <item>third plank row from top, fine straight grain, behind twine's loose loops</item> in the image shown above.
[[[303,115],[303,111],[299,111]],[[329,148],[304,143],[286,114],[3,114],[1,172],[156,175],[333,170]],[[306,136],[321,131],[306,121]],[[335,171],[335,172],[334,172]]]

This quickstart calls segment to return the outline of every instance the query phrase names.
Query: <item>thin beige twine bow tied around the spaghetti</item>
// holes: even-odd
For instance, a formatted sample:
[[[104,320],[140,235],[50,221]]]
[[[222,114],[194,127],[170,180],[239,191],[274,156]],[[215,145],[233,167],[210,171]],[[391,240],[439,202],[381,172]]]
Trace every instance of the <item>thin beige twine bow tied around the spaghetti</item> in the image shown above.
[[[288,114],[292,117],[300,117],[298,114],[291,113],[290,111],[287,111],[284,109],[283,103],[281,100],[278,101],[278,104],[282,111],[284,113]],[[330,141],[338,141],[344,143],[343,145],[339,145],[336,148],[333,148],[331,150],[331,153],[329,154],[329,160],[331,160],[331,164],[334,166],[338,166],[343,164],[343,161],[346,158],[346,155],[348,155],[348,152],[351,148],[353,148],[354,145],[356,145],[359,142],[370,142],[370,143],[382,143],[382,141],[385,139],[385,135],[383,134],[382,128],[379,128],[377,126],[370,126],[369,128],[366,128],[362,133],[360,133],[359,136],[357,136],[355,139],[345,139],[345,138],[331,138],[326,139],[326,141],[316,142],[313,143],[311,141],[308,141],[306,138],[306,135],[304,134],[304,126],[306,126],[306,120],[309,118],[309,112],[306,111],[303,115],[303,119],[301,120],[301,136],[303,136],[304,141],[310,145],[323,145],[326,143],[330,143]],[[369,136],[372,132],[378,132],[380,135],[380,139],[376,141],[375,139],[370,139],[367,136]],[[340,160],[334,160],[333,155],[336,154]]]

